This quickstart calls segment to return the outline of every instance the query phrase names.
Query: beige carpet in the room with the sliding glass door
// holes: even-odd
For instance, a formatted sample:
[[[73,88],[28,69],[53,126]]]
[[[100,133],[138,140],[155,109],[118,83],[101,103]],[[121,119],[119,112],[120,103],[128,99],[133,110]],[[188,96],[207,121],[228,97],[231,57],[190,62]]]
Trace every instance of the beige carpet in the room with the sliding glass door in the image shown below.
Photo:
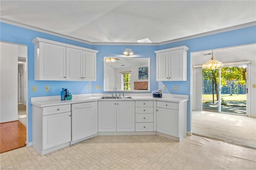
[[[256,148],[256,118],[192,111],[192,133]]]

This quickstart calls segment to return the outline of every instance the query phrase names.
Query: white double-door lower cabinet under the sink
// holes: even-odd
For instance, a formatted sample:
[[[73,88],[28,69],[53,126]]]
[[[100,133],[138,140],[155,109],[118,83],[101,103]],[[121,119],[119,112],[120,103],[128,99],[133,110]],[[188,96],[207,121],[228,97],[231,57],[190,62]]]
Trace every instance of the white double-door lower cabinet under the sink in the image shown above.
[[[98,132],[134,132],[134,101],[99,101]]]

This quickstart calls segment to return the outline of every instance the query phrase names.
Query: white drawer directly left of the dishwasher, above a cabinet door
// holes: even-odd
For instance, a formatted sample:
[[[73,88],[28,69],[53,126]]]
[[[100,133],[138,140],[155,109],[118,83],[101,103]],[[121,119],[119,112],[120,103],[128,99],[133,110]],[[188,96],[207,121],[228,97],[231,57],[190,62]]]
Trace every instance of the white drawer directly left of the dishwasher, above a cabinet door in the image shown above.
[[[71,105],[58,105],[58,106],[49,106],[43,107],[43,116],[53,115],[57,113],[70,112]]]

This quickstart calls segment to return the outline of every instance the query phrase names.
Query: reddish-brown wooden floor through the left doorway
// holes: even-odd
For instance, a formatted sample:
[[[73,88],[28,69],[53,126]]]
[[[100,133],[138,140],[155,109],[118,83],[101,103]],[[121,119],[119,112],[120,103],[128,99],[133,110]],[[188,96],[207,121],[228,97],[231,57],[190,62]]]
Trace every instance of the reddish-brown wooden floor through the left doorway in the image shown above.
[[[26,127],[20,121],[0,123],[0,153],[26,146]]]

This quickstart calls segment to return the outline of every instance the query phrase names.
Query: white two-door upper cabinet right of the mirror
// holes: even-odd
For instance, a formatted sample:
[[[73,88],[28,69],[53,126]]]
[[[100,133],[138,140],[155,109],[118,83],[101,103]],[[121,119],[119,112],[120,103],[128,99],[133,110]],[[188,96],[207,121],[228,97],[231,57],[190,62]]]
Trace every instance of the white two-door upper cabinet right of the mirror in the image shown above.
[[[181,46],[155,51],[156,81],[186,81],[188,49]]]

